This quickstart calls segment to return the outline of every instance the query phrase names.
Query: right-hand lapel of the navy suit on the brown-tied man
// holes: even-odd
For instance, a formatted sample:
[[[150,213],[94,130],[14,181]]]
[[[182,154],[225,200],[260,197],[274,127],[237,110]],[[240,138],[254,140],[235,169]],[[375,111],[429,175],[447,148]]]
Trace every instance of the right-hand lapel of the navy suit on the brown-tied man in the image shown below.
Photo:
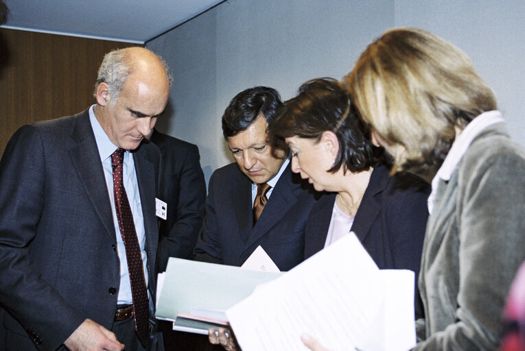
[[[272,195],[268,199],[268,203],[264,207],[261,217],[253,227],[253,232],[250,235],[246,247],[253,245],[259,241],[261,237],[269,232],[276,223],[288,213],[288,210],[297,202],[297,197],[294,190],[301,186],[301,184],[292,184],[292,171],[290,164],[283,171],[281,177],[275,184],[275,189],[272,190]]]

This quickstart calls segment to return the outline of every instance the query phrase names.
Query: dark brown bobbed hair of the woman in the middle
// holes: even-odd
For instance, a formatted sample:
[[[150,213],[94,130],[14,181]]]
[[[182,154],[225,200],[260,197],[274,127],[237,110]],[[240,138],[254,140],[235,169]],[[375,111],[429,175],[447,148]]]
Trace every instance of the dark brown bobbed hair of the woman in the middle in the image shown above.
[[[369,128],[358,118],[345,88],[333,78],[305,82],[299,95],[279,108],[268,126],[268,135],[274,146],[281,146],[289,136],[319,141],[327,130],[336,134],[340,150],[331,172],[340,167],[345,171],[364,171],[384,155],[384,149],[371,143]]]

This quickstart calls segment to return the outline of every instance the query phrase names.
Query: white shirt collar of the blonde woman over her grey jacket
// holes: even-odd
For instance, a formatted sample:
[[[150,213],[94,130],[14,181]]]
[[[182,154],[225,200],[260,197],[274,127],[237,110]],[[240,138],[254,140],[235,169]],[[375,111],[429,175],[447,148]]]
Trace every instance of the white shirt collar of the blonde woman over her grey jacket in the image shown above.
[[[467,127],[456,137],[452,147],[443,161],[443,165],[439,168],[439,171],[432,179],[432,193],[428,197],[428,213],[432,214],[432,209],[434,208],[434,199],[436,197],[436,191],[439,184],[439,180],[444,180],[448,182],[452,177],[452,173],[456,166],[460,162],[469,145],[472,143],[474,138],[478,136],[482,130],[493,125],[495,123],[502,123],[504,119],[500,111],[488,111],[483,112],[478,117],[473,119]]]

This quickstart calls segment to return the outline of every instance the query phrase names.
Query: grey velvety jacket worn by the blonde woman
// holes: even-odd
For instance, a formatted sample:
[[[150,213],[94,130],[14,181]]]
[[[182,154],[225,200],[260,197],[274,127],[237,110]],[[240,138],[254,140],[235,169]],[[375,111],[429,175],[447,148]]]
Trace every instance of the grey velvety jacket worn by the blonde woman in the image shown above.
[[[525,150],[497,123],[439,184],[421,258],[426,319],[417,321],[416,350],[498,348],[504,301],[525,259],[524,214]]]

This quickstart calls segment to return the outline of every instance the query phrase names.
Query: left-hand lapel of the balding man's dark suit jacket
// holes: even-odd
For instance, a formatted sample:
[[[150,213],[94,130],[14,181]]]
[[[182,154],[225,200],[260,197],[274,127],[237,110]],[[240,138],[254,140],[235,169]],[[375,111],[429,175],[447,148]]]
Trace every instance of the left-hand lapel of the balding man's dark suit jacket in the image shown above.
[[[73,164],[80,175],[89,199],[91,199],[91,204],[93,204],[97,215],[104,223],[107,234],[111,241],[116,244],[117,239],[115,238],[115,227],[113,226],[113,215],[106,178],[104,178],[104,169],[102,169],[102,162],[100,162],[95,135],[89,122],[88,110],[75,116],[71,137],[76,142],[69,149]]]

